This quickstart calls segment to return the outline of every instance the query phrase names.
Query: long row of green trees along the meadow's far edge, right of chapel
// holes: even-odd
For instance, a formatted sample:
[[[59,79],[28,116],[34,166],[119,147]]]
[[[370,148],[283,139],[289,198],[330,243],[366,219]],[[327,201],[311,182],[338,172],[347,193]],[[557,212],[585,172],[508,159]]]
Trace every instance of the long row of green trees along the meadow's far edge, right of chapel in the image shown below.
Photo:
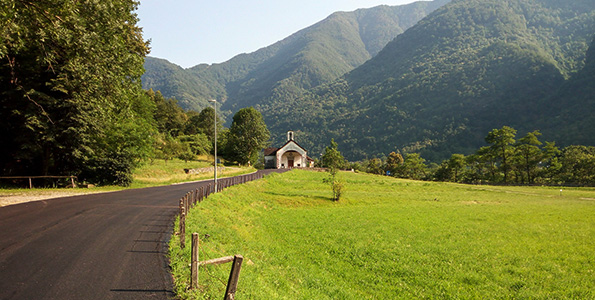
[[[541,142],[539,131],[516,137],[514,128],[493,129],[487,146],[474,154],[453,154],[439,165],[426,164],[417,153],[392,152],[353,164],[354,168],[400,178],[461,183],[595,185],[595,147]]]

